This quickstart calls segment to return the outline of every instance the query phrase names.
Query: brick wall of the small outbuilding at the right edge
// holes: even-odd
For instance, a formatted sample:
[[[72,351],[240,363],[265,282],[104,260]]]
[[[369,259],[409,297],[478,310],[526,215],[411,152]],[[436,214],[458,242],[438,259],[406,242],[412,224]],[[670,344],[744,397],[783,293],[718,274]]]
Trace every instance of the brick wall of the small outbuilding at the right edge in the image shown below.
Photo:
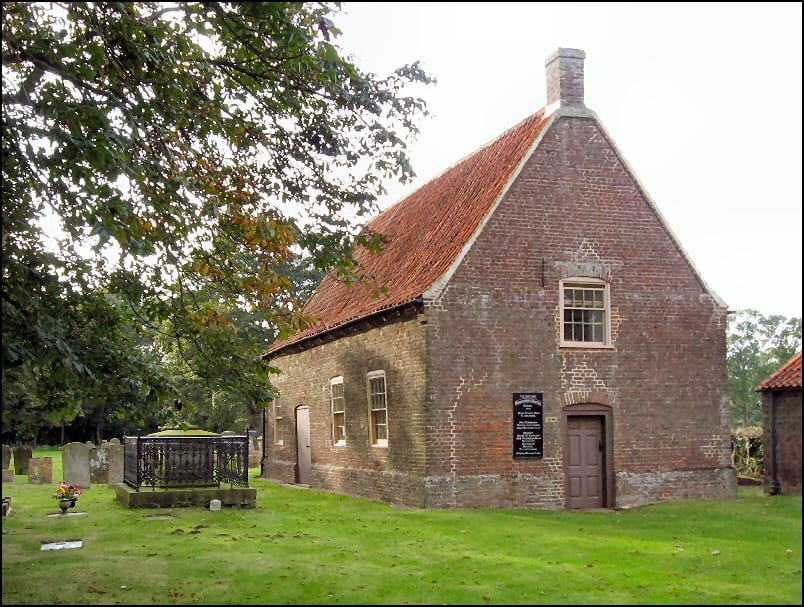
[[[765,493],[771,492],[773,448],[771,445],[770,392],[762,395],[762,428],[764,431]],[[776,407],[776,478],[779,492],[801,495],[801,389],[778,392]]]

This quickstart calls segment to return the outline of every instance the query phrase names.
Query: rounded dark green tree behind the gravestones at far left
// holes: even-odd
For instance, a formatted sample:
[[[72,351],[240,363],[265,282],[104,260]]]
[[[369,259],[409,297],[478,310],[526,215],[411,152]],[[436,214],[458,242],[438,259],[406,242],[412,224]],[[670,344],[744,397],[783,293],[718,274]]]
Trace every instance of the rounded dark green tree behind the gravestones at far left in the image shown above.
[[[60,307],[49,312],[59,324],[48,317],[40,322],[53,326],[54,347],[42,349],[36,358],[20,357],[4,369],[4,440],[36,442],[42,430],[64,430],[79,419],[82,425],[91,420],[91,438],[96,442],[107,422],[141,425],[157,410],[166,379],[148,334],[112,296],[82,294],[66,283],[53,301]],[[36,334],[19,335],[16,344],[36,350],[38,339]],[[65,356],[68,348],[78,356]],[[90,436],[67,432],[60,438],[64,442]]]

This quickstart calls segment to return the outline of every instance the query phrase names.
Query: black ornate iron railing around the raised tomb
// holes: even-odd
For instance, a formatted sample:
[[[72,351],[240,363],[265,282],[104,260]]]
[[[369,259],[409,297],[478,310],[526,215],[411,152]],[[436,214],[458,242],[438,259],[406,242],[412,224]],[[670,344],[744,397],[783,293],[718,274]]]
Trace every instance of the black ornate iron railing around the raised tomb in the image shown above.
[[[248,487],[248,436],[124,436],[123,482],[137,491]]]

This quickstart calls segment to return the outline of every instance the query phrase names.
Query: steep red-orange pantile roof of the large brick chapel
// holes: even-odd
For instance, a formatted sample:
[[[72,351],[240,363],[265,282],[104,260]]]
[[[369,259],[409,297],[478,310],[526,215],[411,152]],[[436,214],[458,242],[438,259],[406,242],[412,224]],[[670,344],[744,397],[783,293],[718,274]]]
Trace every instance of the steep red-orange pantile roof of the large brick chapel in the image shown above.
[[[502,196],[544,130],[543,110],[526,118],[369,222],[389,238],[381,254],[355,257],[388,292],[375,297],[328,275],[304,307],[312,326],[268,348],[266,355],[350,322],[419,298],[455,262]]]

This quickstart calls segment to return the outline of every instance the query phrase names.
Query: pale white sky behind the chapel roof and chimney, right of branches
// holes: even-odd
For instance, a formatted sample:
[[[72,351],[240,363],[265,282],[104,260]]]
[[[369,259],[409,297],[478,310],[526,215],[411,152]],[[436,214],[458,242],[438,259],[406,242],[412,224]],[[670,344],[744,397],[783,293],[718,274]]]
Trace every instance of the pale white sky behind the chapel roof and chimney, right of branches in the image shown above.
[[[422,62],[413,186],[545,104],[586,52],[586,105],[731,310],[802,316],[802,4],[344,2],[335,40],[386,75]]]

